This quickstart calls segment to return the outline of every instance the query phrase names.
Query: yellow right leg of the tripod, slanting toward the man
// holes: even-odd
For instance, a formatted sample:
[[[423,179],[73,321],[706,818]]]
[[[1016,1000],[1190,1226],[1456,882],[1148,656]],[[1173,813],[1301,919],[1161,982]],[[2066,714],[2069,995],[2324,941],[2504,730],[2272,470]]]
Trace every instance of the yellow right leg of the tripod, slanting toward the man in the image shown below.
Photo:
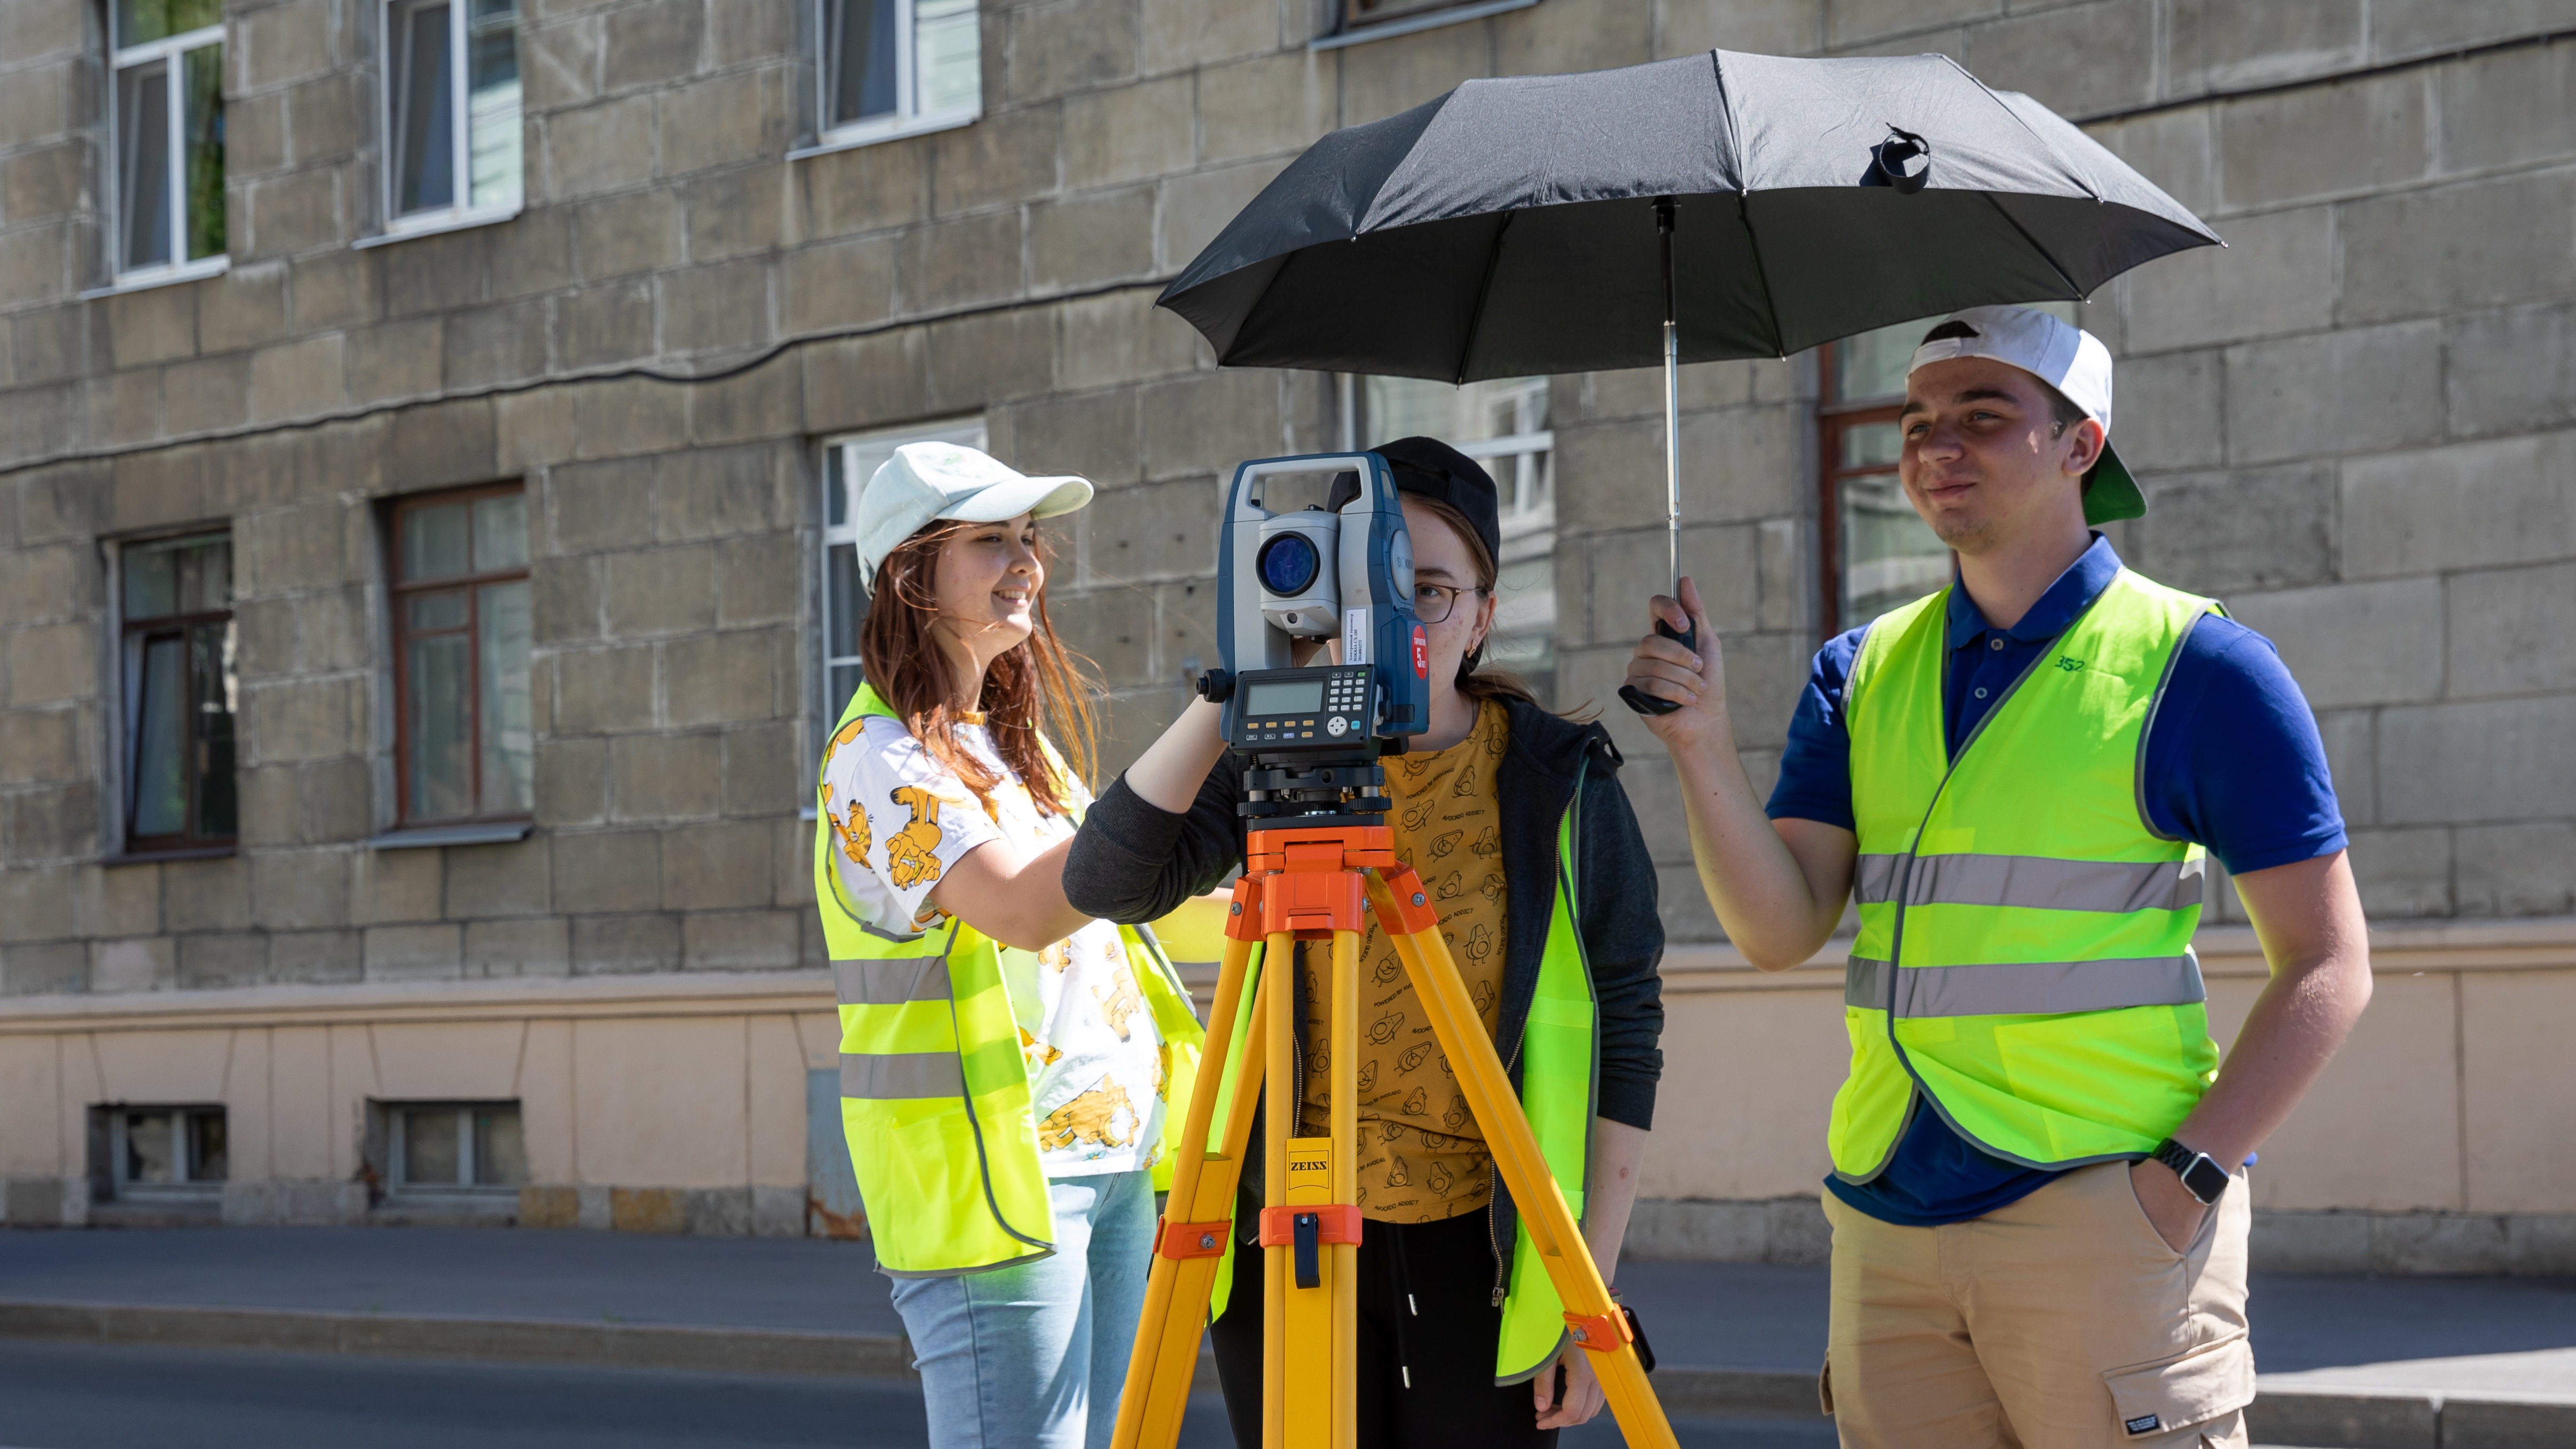
[[[1512,1078],[1502,1071],[1492,1037],[1484,1035],[1476,1001],[1458,981],[1458,965],[1448,955],[1448,942],[1440,939],[1440,916],[1422,898],[1422,880],[1412,870],[1396,870],[1386,880],[1373,878],[1370,903],[1396,945],[1396,960],[1414,981],[1414,996],[1430,1017],[1432,1040],[1440,1042],[1450,1071],[1458,1073],[1458,1091],[1494,1153],[1504,1186],[1512,1189],[1520,1223],[1538,1248],[1538,1261],[1548,1269],[1558,1302],[1566,1305],[1566,1320],[1579,1325],[1587,1338],[1582,1349],[1592,1351],[1592,1374],[1610,1400],[1620,1434],[1643,1449],[1677,1449],[1672,1423],[1646,1382],[1646,1367],[1625,1336],[1625,1320],[1610,1300],[1610,1287],[1602,1284],[1592,1248],[1584,1243],[1566,1197],[1556,1189],[1538,1135],[1530,1132],[1530,1120],[1512,1094]],[[1512,1251],[1510,1243],[1504,1251]]]

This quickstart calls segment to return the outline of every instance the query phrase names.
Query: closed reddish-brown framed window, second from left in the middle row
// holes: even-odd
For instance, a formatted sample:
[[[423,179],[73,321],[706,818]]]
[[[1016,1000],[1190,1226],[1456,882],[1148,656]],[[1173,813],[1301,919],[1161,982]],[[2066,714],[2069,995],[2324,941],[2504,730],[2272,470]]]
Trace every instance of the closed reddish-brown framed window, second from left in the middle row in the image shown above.
[[[404,499],[392,551],[402,824],[526,818],[536,798],[526,492]]]

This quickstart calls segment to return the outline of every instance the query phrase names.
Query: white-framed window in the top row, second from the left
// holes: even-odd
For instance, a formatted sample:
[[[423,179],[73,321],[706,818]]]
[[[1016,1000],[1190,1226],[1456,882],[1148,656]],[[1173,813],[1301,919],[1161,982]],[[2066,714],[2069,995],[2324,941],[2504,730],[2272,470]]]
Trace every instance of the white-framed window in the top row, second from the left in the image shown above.
[[[515,216],[518,0],[384,0],[389,232]]]

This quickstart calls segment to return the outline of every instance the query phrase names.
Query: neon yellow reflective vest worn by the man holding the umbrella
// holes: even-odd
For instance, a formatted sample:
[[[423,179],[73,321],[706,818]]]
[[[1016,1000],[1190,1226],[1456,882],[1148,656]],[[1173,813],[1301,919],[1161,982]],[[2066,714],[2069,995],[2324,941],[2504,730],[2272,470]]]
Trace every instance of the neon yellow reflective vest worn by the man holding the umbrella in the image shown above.
[[[2205,852],[2156,834],[2143,800],[2164,682],[2218,605],[2123,569],[1955,759],[1947,605],[1942,589],[1873,623],[1844,690],[1860,834],[1852,1073],[1829,1127],[1844,1181],[1878,1176],[1917,1099],[1996,1158],[2138,1158],[2218,1073],[2192,955]]]

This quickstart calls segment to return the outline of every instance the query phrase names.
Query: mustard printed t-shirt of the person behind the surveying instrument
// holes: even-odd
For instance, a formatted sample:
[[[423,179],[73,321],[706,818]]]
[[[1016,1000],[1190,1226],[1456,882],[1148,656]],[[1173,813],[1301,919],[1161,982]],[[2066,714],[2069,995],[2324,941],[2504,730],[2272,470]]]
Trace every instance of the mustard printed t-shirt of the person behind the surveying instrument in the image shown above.
[[[1476,1001],[1486,1037],[1502,1019],[1502,808],[1494,775],[1510,739],[1502,705],[1486,700],[1476,728],[1437,754],[1386,762],[1396,860],[1422,875],[1440,911],[1458,978]],[[1332,1130],[1329,988],[1332,950],[1306,952],[1306,1091],[1298,1132]],[[1370,921],[1360,939],[1360,1215],[1381,1223],[1440,1223],[1476,1212],[1492,1197],[1484,1132],[1430,1017],[1396,960],[1394,942]]]

